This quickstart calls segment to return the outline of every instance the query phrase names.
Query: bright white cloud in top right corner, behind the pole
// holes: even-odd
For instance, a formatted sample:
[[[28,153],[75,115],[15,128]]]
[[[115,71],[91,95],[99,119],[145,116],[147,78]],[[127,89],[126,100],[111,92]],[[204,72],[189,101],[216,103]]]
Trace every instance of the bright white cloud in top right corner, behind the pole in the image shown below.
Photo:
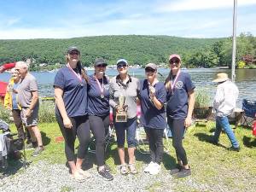
[[[255,0],[237,0],[237,6],[256,4]],[[181,0],[172,3],[161,4],[158,8],[162,12],[189,11],[202,9],[226,9],[232,8],[234,0]]]

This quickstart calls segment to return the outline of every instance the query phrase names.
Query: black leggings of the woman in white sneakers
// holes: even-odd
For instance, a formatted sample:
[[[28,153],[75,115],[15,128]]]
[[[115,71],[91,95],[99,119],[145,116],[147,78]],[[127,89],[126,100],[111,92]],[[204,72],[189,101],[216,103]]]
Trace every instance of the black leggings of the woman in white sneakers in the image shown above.
[[[160,163],[163,159],[164,145],[163,145],[163,129],[151,129],[145,127],[147,133],[149,148],[150,148],[150,159],[154,163]]]

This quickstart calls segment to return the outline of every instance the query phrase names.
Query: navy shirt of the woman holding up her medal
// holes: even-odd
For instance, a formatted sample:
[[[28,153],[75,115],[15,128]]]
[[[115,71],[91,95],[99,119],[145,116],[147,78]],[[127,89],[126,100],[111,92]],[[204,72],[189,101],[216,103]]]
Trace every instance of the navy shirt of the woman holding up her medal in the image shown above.
[[[161,102],[166,102],[166,87],[165,84],[158,82],[154,84],[155,96]],[[139,98],[141,101],[142,115],[141,122],[144,127],[152,129],[165,129],[166,128],[166,110],[160,110],[154,106],[150,101],[148,80],[144,79],[140,82]]]

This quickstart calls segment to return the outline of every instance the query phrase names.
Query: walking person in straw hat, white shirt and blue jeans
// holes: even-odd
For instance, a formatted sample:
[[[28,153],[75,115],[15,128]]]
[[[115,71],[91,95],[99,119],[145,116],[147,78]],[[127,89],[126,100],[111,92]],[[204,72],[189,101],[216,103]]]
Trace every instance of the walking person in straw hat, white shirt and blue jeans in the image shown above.
[[[227,73],[218,73],[217,79],[212,82],[218,83],[216,95],[214,97],[213,108],[216,111],[216,131],[213,137],[213,143],[218,143],[221,130],[227,133],[232,147],[230,150],[240,151],[239,143],[232,131],[228,116],[236,108],[236,100],[239,90],[232,81],[230,81]]]

